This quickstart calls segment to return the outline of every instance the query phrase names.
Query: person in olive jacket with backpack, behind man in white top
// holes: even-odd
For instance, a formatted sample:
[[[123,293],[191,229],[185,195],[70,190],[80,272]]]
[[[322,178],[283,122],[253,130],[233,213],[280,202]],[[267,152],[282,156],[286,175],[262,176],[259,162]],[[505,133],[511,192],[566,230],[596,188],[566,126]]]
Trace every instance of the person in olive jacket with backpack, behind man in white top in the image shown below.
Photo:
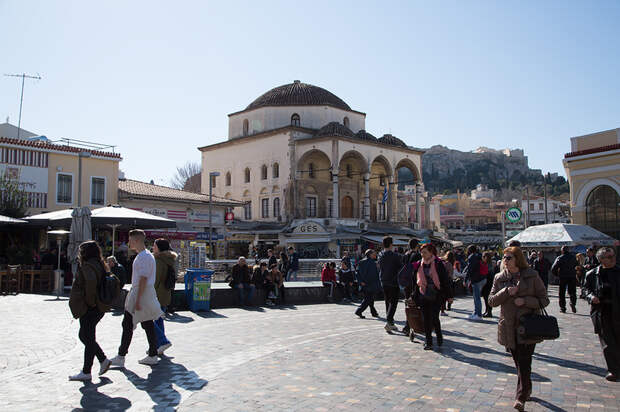
[[[155,256],[155,292],[161,310],[166,313],[166,308],[170,306],[172,301],[172,291],[174,290],[172,281],[176,282],[178,255],[170,249],[168,240],[159,238],[153,244],[153,256]],[[155,320],[155,336],[157,338],[157,354],[163,355],[164,351],[172,346],[164,331],[163,316]]]

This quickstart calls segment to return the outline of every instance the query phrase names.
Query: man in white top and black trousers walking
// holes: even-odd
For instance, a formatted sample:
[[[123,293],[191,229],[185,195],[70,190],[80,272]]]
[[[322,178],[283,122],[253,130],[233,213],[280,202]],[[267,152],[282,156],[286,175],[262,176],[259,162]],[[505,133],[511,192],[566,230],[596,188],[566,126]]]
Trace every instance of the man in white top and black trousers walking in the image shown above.
[[[125,315],[123,317],[123,335],[118,356],[112,359],[112,366],[125,366],[125,355],[129,350],[135,324],[140,323],[146,332],[149,342],[148,356],[138,361],[143,365],[155,365],[157,345],[155,324],[153,320],[161,316],[161,307],[155,293],[155,258],[144,245],[143,230],[134,229],[129,232],[129,248],[137,252],[132,265],[131,290],[125,301]],[[154,306],[155,305],[155,306]]]

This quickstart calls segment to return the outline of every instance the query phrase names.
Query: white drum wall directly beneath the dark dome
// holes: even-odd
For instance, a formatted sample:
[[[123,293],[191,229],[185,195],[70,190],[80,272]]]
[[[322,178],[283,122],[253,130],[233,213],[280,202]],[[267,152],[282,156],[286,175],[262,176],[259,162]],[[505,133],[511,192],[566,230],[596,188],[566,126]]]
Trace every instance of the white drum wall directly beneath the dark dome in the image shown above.
[[[349,128],[353,133],[357,133],[366,127],[366,120],[363,114],[331,106],[260,107],[229,116],[228,138],[234,139],[243,136],[243,121],[245,119],[248,119],[248,134],[251,135],[290,126],[293,113],[299,115],[301,127],[310,129],[320,129],[329,122],[342,124],[345,117],[349,118]]]

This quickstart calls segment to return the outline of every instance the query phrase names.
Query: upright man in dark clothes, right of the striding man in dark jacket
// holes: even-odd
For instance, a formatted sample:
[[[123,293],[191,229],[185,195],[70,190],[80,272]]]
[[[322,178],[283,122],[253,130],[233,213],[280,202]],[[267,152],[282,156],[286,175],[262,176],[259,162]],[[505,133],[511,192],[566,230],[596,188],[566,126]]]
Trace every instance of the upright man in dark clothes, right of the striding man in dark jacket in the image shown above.
[[[394,314],[398,305],[400,287],[398,286],[398,271],[403,266],[400,255],[392,250],[393,240],[390,236],[383,238],[383,251],[379,254],[379,277],[383,284],[385,311],[387,323],[385,330],[388,333],[398,330],[394,325]]]

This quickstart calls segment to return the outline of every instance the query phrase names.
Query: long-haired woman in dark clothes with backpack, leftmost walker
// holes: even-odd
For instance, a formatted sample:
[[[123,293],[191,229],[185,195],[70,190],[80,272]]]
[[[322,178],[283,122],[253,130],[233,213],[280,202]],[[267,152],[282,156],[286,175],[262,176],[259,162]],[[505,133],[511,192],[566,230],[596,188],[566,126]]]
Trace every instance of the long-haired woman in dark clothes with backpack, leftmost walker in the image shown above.
[[[80,373],[69,376],[71,381],[90,381],[90,373],[95,356],[100,362],[99,376],[110,369],[110,360],[95,339],[97,323],[110,307],[102,303],[97,294],[97,286],[108,272],[97,242],[89,240],[80,245],[78,270],[71,287],[69,308],[75,319],[80,320],[78,336],[84,344],[84,366]]]

